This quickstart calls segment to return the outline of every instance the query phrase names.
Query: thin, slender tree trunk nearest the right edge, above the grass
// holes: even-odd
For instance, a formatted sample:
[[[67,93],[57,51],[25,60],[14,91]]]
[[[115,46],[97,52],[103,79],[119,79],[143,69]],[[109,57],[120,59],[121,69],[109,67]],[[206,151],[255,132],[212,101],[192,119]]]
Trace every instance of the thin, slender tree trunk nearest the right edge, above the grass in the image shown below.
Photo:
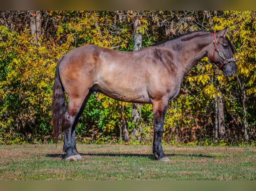
[[[245,80],[244,76],[242,75],[242,82],[241,82],[241,88],[242,88],[242,103],[243,103],[243,110],[244,110],[244,118],[243,118],[243,123],[244,123],[244,140],[245,142],[249,141],[249,135],[248,135],[248,121],[246,118],[247,111],[247,102],[246,102],[246,91],[245,91]]]

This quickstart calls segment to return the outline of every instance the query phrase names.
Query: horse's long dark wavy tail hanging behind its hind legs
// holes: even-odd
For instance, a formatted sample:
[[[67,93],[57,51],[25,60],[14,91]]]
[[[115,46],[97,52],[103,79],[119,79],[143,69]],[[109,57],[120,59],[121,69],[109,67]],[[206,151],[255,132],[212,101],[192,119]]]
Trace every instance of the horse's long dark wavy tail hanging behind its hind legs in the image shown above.
[[[59,78],[59,64],[64,57],[65,55],[62,56],[57,62],[53,85],[51,121],[53,125],[52,135],[55,138],[56,143],[58,142],[60,134],[62,133],[62,121],[66,112],[64,88]]]

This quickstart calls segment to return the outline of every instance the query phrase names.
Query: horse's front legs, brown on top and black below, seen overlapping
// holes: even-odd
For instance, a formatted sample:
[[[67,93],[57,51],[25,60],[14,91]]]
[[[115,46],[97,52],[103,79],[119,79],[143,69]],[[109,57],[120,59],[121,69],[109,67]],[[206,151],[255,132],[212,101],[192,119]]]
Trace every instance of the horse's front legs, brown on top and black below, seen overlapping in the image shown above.
[[[163,122],[168,107],[168,100],[152,101],[154,114],[153,154],[156,160],[169,161],[162,148]]]

